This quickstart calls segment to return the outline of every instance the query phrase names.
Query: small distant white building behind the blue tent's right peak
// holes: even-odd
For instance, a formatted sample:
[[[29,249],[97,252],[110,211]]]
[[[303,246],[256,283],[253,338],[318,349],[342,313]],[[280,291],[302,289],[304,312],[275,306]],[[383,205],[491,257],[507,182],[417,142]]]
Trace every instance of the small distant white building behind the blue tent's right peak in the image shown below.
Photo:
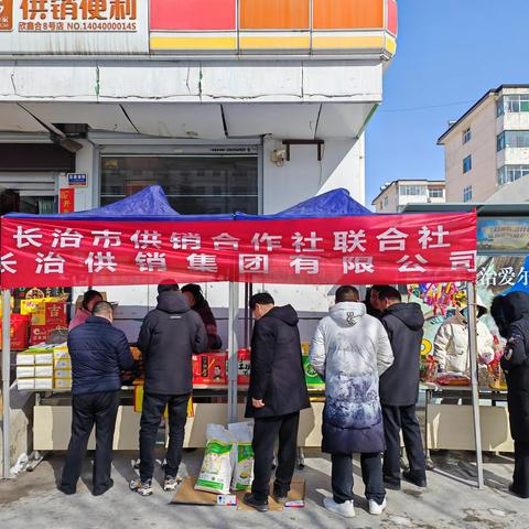
[[[396,180],[380,188],[371,205],[377,213],[401,213],[408,204],[439,204],[445,202],[442,180]]]

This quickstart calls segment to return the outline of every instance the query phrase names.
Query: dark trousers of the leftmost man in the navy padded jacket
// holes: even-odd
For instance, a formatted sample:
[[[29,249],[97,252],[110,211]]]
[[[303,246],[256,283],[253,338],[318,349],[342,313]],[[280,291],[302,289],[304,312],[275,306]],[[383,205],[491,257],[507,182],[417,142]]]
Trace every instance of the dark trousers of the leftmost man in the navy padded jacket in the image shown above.
[[[61,481],[61,489],[65,493],[73,494],[76,490],[94,424],[96,425],[96,455],[94,457],[93,492],[102,494],[107,490],[112,464],[112,441],[118,406],[118,391],[72,396],[72,438]]]

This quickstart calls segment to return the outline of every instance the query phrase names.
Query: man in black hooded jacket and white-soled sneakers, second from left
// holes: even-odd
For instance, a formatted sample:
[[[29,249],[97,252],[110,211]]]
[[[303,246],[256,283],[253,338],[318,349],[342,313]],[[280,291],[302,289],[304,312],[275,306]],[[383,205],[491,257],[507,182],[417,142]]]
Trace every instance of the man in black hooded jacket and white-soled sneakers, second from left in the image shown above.
[[[165,407],[169,409],[169,447],[164,490],[180,483],[187,402],[193,390],[193,353],[207,349],[207,334],[201,316],[190,309],[175,282],[158,285],[158,306],[141,326],[138,348],[143,356],[145,386],[140,421],[140,478],[130,488],[142,496],[152,494],[154,444]]]

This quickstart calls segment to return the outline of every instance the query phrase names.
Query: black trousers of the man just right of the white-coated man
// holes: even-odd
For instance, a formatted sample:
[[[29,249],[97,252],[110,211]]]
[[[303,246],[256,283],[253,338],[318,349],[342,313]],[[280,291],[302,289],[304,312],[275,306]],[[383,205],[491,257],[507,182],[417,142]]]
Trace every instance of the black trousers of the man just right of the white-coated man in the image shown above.
[[[384,454],[384,479],[400,485],[400,431],[404,439],[411,477],[427,478],[427,463],[422,447],[421,428],[413,406],[382,406],[386,452]]]

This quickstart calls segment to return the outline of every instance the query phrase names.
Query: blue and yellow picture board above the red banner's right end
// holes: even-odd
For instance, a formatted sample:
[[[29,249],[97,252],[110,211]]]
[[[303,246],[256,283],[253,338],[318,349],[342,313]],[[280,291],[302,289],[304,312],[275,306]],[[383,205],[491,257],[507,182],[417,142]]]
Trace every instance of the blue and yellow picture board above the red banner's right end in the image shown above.
[[[481,218],[477,245],[482,251],[528,251],[529,218]]]

